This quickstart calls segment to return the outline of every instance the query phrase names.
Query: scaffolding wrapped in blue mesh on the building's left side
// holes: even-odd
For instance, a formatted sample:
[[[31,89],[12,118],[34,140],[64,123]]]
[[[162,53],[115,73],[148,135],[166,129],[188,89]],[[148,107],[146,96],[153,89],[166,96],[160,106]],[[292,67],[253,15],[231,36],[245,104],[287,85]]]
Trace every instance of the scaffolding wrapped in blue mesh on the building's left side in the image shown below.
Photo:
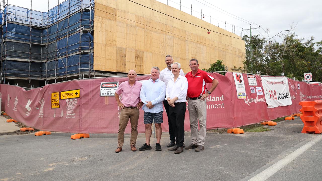
[[[94,0],[66,0],[48,11],[0,3],[1,76],[67,80],[93,71]],[[2,26],[3,25],[3,26]]]

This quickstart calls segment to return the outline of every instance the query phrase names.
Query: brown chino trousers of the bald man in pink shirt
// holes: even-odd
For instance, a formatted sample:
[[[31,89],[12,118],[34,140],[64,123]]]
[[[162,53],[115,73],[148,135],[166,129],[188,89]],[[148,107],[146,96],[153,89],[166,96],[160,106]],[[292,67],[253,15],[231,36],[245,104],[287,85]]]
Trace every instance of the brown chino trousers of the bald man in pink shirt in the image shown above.
[[[123,146],[124,143],[124,131],[128,125],[128,120],[130,119],[131,123],[131,139],[130,145],[135,145],[137,142],[137,122],[139,119],[139,109],[137,108],[124,108],[120,113],[120,122],[118,124],[118,147]]]

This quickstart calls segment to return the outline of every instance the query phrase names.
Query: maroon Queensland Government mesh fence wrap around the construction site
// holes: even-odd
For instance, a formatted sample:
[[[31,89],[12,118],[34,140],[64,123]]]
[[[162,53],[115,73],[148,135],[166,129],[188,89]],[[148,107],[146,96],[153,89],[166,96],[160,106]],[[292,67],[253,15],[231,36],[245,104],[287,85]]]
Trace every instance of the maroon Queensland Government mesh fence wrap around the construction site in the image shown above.
[[[255,76],[256,87],[261,87],[264,95],[252,93],[250,87],[254,86],[249,86],[247,74],[242,74],[246,99],[238,99],[232,72],[227,72],[225,75],[218,73],[210,73],[210,75],[219,81],[219,85],[206,99],[207,129],[235,128],[291,115],[299,112],[300,101],[319,100],[322,97],[321,86],[287,79],[286,86],[289,88],[292,104],[268,108],[265,100],[265,94],[268,92],[263,88],[260,76]],[[149,78],[149,75],[137,76],[137,81]],[[100,96],[101,91],[106,91],[101,84],[117,85],[124,81],[128,81],[128,78],[75,80],[48,84],[28,91],[12,85],[0,84],[3,100],[1,107],[15,120],[35,129],[71,133],[117,133],[121,109],[118,108],[114,96]],[[207,84],[207,88],[210,87],[211,84]],[[62,91],[69,90],[72,93],[70,95],[73,96],[78,91],[79,98],[62,99]],[[56,94],[59,96],[54,97],[53,95]],[[137,128],[139,133],[145,132],[143,115],[144,112],[141,109]],[[165,111],[163,111],[163,120],[162,130],[167,132],[169,129]],[[188,110],[185,113],[185,130],[190,130]],[[125,132],[131,132],[130,124]]]

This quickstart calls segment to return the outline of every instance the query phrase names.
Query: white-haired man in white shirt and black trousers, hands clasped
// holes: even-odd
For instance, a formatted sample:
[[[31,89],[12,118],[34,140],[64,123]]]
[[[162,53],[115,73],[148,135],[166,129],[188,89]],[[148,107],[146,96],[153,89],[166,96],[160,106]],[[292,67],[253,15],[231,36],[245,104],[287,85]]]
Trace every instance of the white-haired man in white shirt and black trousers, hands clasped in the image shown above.
[[[175,132],[175,146],[169,148],[169,151],[175,151],[175,154],[183,152],[183,142],[185,139],[185,98],[187,96],[188,81],[184,76],[179,75],[181,65],[175,62],[171,65],[173,77],[166,87],[166,100],[168,101],[169,115],[171,125]]]

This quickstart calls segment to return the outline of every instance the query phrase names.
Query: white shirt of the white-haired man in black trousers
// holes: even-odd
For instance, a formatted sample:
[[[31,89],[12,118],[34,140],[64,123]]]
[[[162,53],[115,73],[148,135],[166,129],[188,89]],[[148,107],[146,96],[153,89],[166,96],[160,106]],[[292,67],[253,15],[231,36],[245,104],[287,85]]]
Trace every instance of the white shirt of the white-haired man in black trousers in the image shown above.
[[[170,79],[168,85],[166,86],[166,100],[167,98],[177,97],[178,100],[175,102],[185,102],[185,97],[187,96],[188,81],[184,76],[179,75],[176,81],[174,77]]]

